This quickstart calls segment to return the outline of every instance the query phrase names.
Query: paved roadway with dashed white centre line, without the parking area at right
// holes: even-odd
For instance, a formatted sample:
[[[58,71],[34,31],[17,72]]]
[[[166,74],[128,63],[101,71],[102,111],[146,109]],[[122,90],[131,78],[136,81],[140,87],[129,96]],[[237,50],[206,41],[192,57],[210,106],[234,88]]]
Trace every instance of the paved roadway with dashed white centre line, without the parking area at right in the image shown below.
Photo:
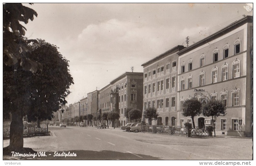
[[[79,158],[85,160],[198,159],[198,156],[135,140],[142,133],[95,127],[56,127],[49,130],[57,137],[58,151],[76,151]]]

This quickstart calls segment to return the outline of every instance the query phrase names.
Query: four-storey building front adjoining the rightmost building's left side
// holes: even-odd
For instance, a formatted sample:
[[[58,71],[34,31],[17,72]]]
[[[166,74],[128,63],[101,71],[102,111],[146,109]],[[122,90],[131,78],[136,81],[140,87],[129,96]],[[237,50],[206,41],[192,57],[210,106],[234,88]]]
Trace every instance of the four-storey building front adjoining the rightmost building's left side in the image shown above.
[[[159,114],[152,124],[177,125],[177,52],[184,49],[178,45],[167,52],[143,63],[143,111],[149,107]]]

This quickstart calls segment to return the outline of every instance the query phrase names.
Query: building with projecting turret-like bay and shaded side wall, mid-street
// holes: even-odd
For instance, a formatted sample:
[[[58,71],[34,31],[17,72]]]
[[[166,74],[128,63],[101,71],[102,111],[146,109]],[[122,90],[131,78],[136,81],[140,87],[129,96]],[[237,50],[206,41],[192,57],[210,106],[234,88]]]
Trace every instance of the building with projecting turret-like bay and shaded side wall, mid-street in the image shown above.
[[[116,127],[120,127],[127,123],[127,118],[124,116],[127,107],[142,111],[143,73],[125,72],[111,81],[110,84],[111,112],[120,114],[119,121],[115,124]]]

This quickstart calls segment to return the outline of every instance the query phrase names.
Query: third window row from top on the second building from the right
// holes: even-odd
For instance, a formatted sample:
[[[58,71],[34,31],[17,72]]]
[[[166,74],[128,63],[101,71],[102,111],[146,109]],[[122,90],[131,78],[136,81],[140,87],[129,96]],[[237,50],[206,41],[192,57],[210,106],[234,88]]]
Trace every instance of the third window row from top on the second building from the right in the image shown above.
[[[157,102],[157,105],[156,103]],[[175,106],[175,96],[174,97],[171,97],[171,106],[174,107]],[[163,108],[164,107],[164,99],[157,99],[156,101],[155,100],[152,100],[152,106],[151,106],[151,101],[148,101],[148,102],[144,102],[144,110],[146,108]],[[165,98],[165,107],[169,107],[169,98]]]

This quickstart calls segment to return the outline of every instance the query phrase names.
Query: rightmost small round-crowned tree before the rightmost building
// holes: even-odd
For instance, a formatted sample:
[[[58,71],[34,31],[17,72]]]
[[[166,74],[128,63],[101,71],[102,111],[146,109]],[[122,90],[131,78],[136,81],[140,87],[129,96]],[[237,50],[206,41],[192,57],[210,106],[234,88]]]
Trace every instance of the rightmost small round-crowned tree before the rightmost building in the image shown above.
[[[221,100],[211,99],[210,101],[208,101],[208,103],[203,105],[203,115],[207,117],[211,117],[213,122],[213,116],[218,117],[218,116],[226,115],[226,107]],[[216,136],[215,128],[213,129],[214,129],[214,136]]]

